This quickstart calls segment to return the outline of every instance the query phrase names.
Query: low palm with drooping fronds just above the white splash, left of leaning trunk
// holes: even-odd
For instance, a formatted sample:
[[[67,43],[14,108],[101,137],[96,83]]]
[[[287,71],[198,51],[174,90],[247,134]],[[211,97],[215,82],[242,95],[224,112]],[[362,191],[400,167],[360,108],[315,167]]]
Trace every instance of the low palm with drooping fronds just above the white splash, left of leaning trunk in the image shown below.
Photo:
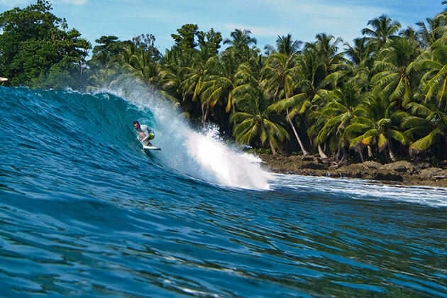
[[[233,136],[241,144],[250,144],[257,140],[262,145],[268,143],[273,154],[276,148],[286,138],[289,138],[287,131],[280,123],[280,116],[267,109],[271,99],[265,96],[262,89],[250,87],[243,93],[235,94],[235,101],[238,111],[231,115],[230,121],[234,121]]]

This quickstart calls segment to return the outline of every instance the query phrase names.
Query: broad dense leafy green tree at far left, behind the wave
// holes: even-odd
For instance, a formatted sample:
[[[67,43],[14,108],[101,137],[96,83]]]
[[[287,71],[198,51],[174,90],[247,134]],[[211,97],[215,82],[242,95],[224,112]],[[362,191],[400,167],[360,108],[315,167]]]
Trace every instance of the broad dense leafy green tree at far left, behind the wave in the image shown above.
[[[50,1],[37,0],[0,14],[0,73],[8,84],[50,87],[50,78],[63,75],[65,86],[73,86],[82,75],[91,45],[77,30],[67,31],[65,19],[51,9]]]

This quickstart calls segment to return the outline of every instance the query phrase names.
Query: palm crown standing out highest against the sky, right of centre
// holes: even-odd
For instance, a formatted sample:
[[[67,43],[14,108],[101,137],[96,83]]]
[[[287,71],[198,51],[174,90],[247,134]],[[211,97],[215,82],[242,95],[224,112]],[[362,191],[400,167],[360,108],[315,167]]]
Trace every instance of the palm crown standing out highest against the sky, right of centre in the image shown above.
[[[368,21],[368,25],[373,27],[373,29],[363,28],[362,34],[369,35],[369,40],[380,46],[384,45],[387,40],[395,38],[396,35],[394,35],[394,33],[397,33],[401,27],[399,22],[392,21],[391,18],[388,18],[385,15],[373,18]]]

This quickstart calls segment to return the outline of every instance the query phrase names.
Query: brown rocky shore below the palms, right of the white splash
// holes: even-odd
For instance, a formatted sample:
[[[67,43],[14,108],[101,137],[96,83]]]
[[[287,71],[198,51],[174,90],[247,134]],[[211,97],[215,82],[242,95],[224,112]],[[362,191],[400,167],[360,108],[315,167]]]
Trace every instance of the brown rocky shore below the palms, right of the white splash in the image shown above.
[[[316,156],[302,155],[258,155],[263,160],[263,167],[272,172],[285,174],[349,177],[381,182],[424,185],[447,188],[447,162],[433,167],[427,162],[398,161],[386,165],[380,162],[366,161],[347,165],[337,165],[331,160]]]

